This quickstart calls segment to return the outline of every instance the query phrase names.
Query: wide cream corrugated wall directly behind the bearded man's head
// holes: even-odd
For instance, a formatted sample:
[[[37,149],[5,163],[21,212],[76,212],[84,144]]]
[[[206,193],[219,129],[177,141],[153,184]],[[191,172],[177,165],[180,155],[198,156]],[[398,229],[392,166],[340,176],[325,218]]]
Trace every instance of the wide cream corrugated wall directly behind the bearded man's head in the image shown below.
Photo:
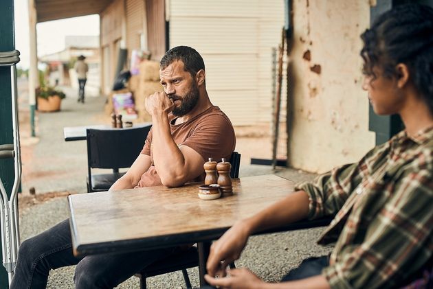
[[[281,0],[169,1],[170,47],[203,56],[212,102],[235,125],[271,120],[271,47],[284,24]]]

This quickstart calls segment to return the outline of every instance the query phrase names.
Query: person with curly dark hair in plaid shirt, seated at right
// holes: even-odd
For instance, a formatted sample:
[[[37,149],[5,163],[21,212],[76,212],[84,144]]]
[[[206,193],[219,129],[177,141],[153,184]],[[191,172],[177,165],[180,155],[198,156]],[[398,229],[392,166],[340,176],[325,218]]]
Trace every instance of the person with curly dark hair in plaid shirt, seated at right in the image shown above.
[[[225,289],[432,288],[433,255],[433,9],[401,5],[362,34],[364,85],[375,113],[398,113],[405,130],[342,165],[303,183],[287,198],[239,221],[208,258],[206,280]],[[320,244],[330,256],[304,260],[268,284],[227,264],[241,255],[249,235],[270,227],[334,216]],[[421,278],[425,268],[425,277]],[[220,278],[214,278],[219,276]]]

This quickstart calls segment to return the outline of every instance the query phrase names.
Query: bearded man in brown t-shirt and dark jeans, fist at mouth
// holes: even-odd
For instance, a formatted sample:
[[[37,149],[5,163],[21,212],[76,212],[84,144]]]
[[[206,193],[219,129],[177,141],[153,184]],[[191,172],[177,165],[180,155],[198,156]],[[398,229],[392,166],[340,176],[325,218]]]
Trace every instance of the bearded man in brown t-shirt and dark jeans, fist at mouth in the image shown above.
[[[159,76],[164,92],[146,99],[153,126],[144,148],[110,190],[155,185],[178,187],[202,181],[205,160],[229,159],[234,151],[233,126],[210,102],[200,54],[186,46],[170,49],[160,62]],[[95,226],[97,230],[98,224]],[[76,288],[113,288],[177,250],[176,247],[75,257],[69,220],[65,220],[21,244],[10,288],[45,288],[49,270],[74,264],[78,264],[74,276]]]

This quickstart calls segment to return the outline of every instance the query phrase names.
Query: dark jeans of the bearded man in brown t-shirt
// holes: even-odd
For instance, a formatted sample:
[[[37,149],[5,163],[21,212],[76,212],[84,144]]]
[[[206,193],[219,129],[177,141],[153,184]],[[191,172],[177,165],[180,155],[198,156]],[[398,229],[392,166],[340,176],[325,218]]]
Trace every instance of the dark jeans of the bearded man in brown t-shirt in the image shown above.
[[[64,220],[21,244],[10,289],[45,288],[49,270],[75,264],[78,264],[74,276],[76,288],[113,288],[177,250],[164,248],[74,257],[69,220]]]

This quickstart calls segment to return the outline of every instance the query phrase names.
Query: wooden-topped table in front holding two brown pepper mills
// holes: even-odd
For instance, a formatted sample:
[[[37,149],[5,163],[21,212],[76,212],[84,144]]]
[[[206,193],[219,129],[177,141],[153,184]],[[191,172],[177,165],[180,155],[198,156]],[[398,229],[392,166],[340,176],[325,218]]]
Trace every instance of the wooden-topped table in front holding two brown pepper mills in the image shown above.
[[[233,196],[201,200],[199,183],[68,196],[74,254],[140,251],[216,240],[236,220],[253,216],[293,192],[293,183],[275,175],[233,179]],[[298,222],[263,231],[315,227]],[[199,252],[200,280],[208,252]]]

